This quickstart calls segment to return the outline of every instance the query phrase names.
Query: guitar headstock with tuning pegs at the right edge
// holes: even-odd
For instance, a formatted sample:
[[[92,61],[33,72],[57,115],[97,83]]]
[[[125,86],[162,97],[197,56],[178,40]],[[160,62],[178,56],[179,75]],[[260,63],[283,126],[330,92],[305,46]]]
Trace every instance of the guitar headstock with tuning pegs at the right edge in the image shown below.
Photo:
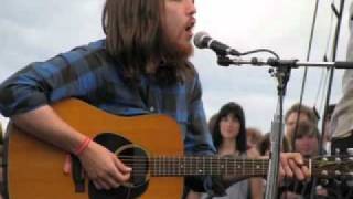
[[[318,156],[311,161],[312,176],[334,178],[339,180],[353,179],[353,156]]]

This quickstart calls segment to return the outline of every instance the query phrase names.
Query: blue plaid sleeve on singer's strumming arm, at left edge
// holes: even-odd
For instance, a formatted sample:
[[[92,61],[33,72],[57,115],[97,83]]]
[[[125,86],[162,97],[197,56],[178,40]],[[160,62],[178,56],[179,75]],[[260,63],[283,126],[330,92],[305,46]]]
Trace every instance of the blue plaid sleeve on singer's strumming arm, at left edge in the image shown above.
[[[65,97],[86,94],[96,86],[96,77],[84,48],[35,62],[0,85],[0,112],[10,117]]]

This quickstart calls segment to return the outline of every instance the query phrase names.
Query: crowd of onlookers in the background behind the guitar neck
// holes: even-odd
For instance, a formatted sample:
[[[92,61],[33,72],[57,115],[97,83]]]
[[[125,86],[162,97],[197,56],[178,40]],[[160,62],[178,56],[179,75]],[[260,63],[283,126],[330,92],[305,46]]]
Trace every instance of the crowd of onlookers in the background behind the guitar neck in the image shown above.
[[[330,153],[328,151],[331,138],[329,123],[333,108],[334,105],[328,108],[323,122],[325,125],[320,133],[314,111],[303,104],[293,104],[284,117],[285,133],[281,151],[300,153],[306,158]],[[245,121],[243,107],[234,102],[225,104],[218,113],[210,117],[208,127],[218,155],[239,158],[269,155],[270,132],[265,134],[256,127],[247,127]],[[220,199],[264,198],[265,185],[265,179],[245,179],[228,187],[227,196]],[[334,192],[317,181],[293,179],[285,179],[280,182],[279,197],[281,199],[335,198]],[[200,198],[205,198],[205,195]]]

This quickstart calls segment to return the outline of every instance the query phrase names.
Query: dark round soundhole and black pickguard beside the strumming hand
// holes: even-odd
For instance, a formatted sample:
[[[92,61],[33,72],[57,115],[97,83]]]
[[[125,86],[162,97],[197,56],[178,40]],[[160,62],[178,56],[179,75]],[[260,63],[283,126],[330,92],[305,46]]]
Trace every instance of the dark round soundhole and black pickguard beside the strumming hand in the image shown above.
[[[132,199],[140,197],[148,187],[147,153],[128,139],[113,133],[99,134],[94,140],[115,153],[125,165],[132,168],[132,174],[128,182],[111,190],[98,190],[89,181],[89,199]]]

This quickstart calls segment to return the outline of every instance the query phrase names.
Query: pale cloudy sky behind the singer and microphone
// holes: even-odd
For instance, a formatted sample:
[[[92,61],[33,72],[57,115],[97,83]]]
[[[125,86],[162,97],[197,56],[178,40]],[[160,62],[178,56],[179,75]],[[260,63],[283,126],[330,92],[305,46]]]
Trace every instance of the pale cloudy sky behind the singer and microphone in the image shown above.
[[[349,39],[345,1],[336,60],[345,60]],[[196,0],[194,32],[205,31],[212,38],[240,51],[266,48],[281,59],[304,62],[314,11],[314,0]],[[332,59],[332,35],[336,20],[330,3],[320,1],[310,61],[320,62],[327,53]],[[104,38],[100,13],[104,0],[2,0],[0,7],[0,82],[34,61],[45,61],[77,45]],[[331,36],[330,36],[331,35]],[[327,50],[328,49],[328,50]],[[260,57],[260,53],[242,59]],[[207,118],[227,102],[239,103],[245,111],[247,126],[263,133],[270,130],[278,104],[277,81],[268,66],[250,65],[221,67],[211,50],[195,49],[191,61],[203,85],[203,102]],[[299,102],[303,67],[293,69],[287,86],[284,109]],[[322,112],[325,69],[309,69],[303,103]],[[341,97],[342,71],[334,72],[330,103]],[[321,84],[322,85],[322,84]],[[4,127],[8,119],[0,116]]]

